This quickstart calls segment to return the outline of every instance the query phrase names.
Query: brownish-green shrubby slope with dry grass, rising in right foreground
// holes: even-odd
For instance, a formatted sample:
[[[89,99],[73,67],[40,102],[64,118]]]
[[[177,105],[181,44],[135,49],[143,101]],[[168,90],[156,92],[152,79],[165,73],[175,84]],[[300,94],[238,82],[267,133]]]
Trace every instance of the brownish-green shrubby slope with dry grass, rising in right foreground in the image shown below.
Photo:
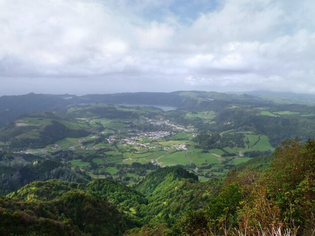
[[[312,235],[315,141],[283,142],[273,157],[265,172],[248,168],[231,172],[206,207],[189,212],[162,234]]]

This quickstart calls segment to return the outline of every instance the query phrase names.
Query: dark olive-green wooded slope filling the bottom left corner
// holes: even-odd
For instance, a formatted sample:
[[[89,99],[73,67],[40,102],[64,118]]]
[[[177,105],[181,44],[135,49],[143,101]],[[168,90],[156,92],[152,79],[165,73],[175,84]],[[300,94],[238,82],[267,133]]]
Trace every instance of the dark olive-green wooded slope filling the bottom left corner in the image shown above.
[[[119,235],[129,226],[108,201],[80,190],[48,201],[0,197],[1,235]]]

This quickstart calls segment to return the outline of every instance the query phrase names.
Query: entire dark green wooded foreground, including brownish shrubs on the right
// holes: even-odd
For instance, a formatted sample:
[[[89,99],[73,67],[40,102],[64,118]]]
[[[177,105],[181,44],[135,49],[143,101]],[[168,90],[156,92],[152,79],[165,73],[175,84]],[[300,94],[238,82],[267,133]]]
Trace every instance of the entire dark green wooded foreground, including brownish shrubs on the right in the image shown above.
[[[203,183],[178,166],[133,187],[108,179],[32,182],[0,197],[0,233],[312,235],[314,211],[315,141],[296,139]]]

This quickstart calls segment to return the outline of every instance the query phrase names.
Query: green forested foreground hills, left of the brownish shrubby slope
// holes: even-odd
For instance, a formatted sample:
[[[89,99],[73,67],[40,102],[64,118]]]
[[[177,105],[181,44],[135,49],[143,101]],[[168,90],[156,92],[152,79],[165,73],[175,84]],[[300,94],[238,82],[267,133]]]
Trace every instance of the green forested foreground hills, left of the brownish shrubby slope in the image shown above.
[[[200,185],[196,175],[180,167],[161,170],[146,180],[152,182],[152,176],[164,179],[160,190],[150,196],[108,179],[87,185],[60,180],[29,183],[0,197],[0,233],[122,235],[126,229],[142,225],[171,225],[216,193],[214,182]]]

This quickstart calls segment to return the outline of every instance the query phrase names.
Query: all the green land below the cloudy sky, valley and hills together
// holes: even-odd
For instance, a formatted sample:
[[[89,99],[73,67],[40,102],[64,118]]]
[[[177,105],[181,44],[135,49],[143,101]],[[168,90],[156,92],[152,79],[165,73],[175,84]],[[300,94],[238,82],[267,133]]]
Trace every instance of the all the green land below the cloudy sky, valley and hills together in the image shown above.
[[[0,126],[2,235],[314,233],[310,103],[28,94],[0,97]]]

